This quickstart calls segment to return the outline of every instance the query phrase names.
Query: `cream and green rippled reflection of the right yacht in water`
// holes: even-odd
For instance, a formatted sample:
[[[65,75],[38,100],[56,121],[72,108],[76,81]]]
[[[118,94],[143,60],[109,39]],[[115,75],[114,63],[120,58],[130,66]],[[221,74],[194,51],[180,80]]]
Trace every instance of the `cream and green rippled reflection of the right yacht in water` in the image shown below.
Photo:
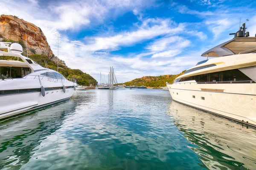
[[[227,119],[171,102],[167,114],[183,136],[198,147],[190,147],[212,170],[256,167],[256,130]]]

